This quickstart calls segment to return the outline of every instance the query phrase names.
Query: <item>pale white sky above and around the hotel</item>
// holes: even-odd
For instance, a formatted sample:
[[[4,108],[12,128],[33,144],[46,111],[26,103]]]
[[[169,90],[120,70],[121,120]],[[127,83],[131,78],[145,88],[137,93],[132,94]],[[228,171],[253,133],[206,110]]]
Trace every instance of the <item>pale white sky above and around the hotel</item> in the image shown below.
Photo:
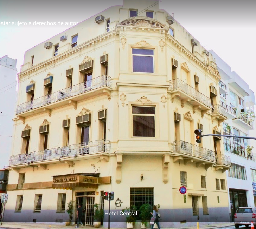
[[[0,57],[8,55],[17,59],[19,72],[26,50],[70,27],[6,26],[1,25],[1,22],[81,22],[111,6],[122,5],[122,2],[123,0],[0,0]],[[169,14],[174,13],[175,20],[207,50],[212,49],[218,54],[254,90],[255,0],[160,0],[159,5]],[[0,115],[0,123],[1,121]],[[2,168],[3,164],[8,164],[9,152],[0,156]]]

